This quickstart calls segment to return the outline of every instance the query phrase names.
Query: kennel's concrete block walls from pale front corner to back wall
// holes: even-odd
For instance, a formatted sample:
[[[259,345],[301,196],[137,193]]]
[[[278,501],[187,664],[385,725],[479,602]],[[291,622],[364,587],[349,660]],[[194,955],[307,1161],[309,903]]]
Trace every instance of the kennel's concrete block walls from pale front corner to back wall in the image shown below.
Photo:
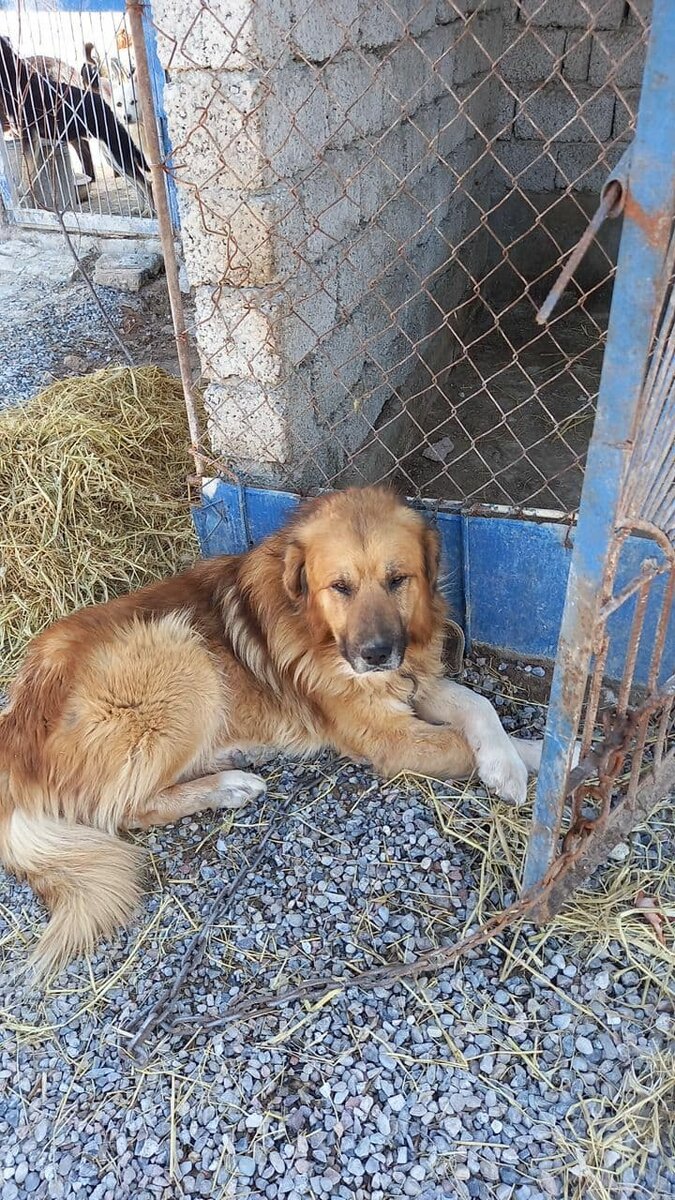
[[[153,17],[214,449],[253,479],[325,484],[456,354],[495,197],[590,187],[598,146],[629,136],[641,13],[154,0]]]

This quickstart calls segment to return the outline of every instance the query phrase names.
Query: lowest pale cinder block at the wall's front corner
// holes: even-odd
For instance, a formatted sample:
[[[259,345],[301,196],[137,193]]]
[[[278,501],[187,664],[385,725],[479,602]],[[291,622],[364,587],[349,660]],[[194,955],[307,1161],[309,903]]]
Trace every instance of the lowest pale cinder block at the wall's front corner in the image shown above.
[[[204,394],[209,440],[226,458],[283,464],[291,461],[288,401],[283,389],[256,379],[210,383]]]

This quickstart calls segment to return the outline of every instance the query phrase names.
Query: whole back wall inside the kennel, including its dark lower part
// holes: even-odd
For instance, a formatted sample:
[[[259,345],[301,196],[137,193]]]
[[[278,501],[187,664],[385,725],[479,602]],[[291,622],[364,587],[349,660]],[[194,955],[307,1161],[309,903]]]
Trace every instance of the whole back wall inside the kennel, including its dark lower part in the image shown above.
[[[539,302],[631,142],[651,5],[519,0],[503,13],[489,222],[492,259],[501,263],[489,292],[506,304],[522,293],[524,281],[533,282]],[[605,296],[602,302],[616,244],[617,226],[610,222],[575,275],[581,288]]]

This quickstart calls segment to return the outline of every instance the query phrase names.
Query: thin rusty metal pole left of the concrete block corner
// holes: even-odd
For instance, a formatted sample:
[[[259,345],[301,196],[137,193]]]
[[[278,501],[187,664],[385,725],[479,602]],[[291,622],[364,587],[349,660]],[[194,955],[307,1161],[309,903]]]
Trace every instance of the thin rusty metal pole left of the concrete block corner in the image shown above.
[[[141,116],[147,138],[147,158],[153,176],[153,199],[157,210],[157,223],[160,227],[160,240],[165,258],[165,270],[167,276],[167,290],[171,304],[171,316],[175,335],[175,347],[178,350],[178,365],[180,368],[180,380],[183,383],[183,395],[185,396],[185,409],[187,412],[187,426],[192,457],[195,458],[195,473],[201,480],[204,475],[204,456],[201,450],[202,437],[199,419],[197,416],[197,404],[195,389],[192,386],[192,373],[190,370],[190,353],[187,346],[187,329],[185,326],[185,311],[180,295],[178,281],[178,262],[175,257],[175,245],[173,240],[173,226],[171,220],[167,178],[162,161],[160,136],[157,132],[157,119],[155,114],[155,101],[153,97],[153,84],[150,79],[150,67],[148,64],[148,48],[145,44],[145,30],[143,28],[143,13],[145,5],[142,0],[126,0],[126,14],[131,30],[131,41],[136,60],[136,91],[141,102]]]

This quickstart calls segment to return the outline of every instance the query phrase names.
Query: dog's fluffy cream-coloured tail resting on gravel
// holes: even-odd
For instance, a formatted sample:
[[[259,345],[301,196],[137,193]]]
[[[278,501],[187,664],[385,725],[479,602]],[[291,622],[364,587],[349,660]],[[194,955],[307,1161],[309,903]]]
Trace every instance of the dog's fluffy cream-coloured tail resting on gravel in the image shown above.
[[[50,912],[30,959],[43,979],[129,920],[141,895],[142,852],[101,829],[22,810],[2,826],[2,858]]]

